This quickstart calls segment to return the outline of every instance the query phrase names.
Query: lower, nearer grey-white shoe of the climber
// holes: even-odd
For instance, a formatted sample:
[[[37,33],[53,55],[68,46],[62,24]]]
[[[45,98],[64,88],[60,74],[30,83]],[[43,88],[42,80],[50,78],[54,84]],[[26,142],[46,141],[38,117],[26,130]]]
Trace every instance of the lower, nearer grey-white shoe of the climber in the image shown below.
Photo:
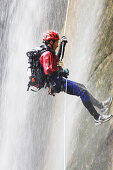
[[[107,122],[113,117],[113,115],[100,115],[99,118],[96,120],[95,119],[95,125],[101,125],[104,122]]]

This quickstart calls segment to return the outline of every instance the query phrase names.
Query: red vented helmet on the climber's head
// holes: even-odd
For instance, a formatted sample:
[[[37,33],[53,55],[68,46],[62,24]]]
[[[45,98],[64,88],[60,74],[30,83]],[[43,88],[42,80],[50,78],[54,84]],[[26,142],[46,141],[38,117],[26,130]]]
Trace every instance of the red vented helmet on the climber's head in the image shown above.
[[[57,32],[54,31],[48,31],[43,35],[43,41],[49,41],[49,40],[59,40],[59,35]]]

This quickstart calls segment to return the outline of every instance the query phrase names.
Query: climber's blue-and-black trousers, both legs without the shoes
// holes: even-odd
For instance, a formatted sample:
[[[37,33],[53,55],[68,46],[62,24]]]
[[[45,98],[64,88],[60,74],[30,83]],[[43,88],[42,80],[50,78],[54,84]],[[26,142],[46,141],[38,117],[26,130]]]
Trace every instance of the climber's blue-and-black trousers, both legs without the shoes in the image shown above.
[[[98,108],[102,107],[102,104],[97,101],[86,89],[83,84],[76,83],[71,80],[66,80],[65,78],[55,77],[54,78],[54,92],[59,93],[64,91],[67,94],[79,96],[82,100],[83,105],[87,108],[94,119],[99,118],[99,114],[95,110],[92,102]]]

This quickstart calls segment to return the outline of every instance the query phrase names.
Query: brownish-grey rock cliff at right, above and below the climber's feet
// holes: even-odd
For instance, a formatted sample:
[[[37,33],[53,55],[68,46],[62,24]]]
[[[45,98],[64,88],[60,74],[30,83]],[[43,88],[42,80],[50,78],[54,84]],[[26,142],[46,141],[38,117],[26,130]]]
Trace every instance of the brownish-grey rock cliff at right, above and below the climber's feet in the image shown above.
[[[70,8],[73,8],[72,1]],[[73,10],[69,14],[73,16]],[[113,1],[106,0],[96,36],[96,49],[90,61],[90,92],[99,100],[113,96]],[[68,20],[68,22],[73,22]],[[68,24],[68,27],[70,24]],[[73,26],[72,26],[73,31]],[[69,35],[68,31],[68,35]],[[113,103],[110,108],[113,114]],[[113,170],[113,119],[95,127],[83,108],[74,130],[68,170]]]

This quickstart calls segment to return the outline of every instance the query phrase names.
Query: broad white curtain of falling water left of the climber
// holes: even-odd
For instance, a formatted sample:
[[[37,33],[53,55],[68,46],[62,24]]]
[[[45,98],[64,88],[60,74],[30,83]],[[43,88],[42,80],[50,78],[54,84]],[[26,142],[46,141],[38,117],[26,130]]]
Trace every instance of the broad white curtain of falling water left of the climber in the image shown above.
[[[26,51],[41,43],[44,31],[61,29],[66,1],[58,0],[55,4],[48,0],[0,3],[0,169],[41,170],[51,132],[55,99],[48,97],[45,90],[39,93],[26,91]],[[59,15],[62,19],[57,24]]]

